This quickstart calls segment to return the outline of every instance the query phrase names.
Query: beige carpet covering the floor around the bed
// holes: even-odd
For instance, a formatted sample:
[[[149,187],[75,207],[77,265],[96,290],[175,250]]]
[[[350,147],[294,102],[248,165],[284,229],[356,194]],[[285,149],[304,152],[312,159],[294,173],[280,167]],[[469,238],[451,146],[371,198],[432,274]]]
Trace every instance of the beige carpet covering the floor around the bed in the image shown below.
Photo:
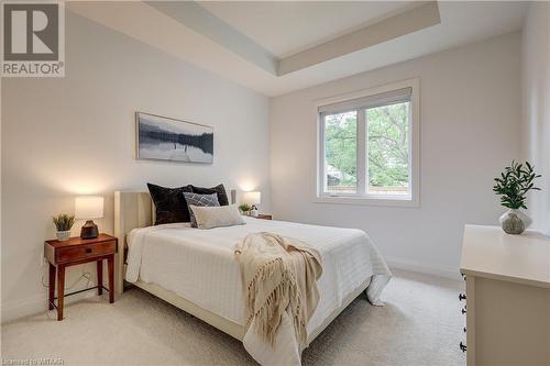
[[[304,365],[464,365],[463,284],[394,271],[385,307],[358,298],[304,352]],[[65,365],[254,365],[241,343],[132,289],[113,304],[90,298],[2,325],[2,358]]]

